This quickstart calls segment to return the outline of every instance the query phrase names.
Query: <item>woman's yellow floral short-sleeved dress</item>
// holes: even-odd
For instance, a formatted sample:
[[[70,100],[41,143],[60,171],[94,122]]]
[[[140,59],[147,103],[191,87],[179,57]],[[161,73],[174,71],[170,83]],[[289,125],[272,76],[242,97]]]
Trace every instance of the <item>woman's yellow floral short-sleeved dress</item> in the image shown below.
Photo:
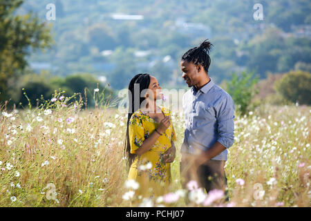
[[[161,109],[164,116],[171,115],[169,109],[164,107]],[[140,110],[133,113],[129,121],[131,153],[135,154],[135,150],[140,148],[142,142],[158,128],[158,124],[160,123]],[[129,170],[129,180],[135,180],[140,184],[139,189],[135,191],[136,194],[152,197],[167,193],[167,187],[171,183],[171,164],[164,162],[163,155],[171,147],[171,141],[176,141],[173,124],[162,133],[149,151],[135,156]]]

